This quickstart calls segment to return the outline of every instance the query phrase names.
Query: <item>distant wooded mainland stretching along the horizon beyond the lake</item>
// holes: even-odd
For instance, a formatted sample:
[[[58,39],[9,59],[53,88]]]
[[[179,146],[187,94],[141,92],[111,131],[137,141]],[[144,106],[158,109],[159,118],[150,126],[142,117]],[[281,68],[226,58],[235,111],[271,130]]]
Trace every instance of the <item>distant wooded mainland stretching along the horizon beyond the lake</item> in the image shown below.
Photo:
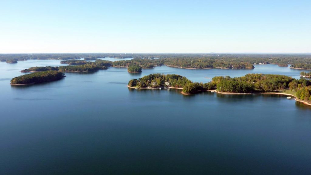
[[[293,64],[292,68],[311,69],[311,54],[111,54],[111,53],[89,53],[89,54],[0,54],[1,61],[27,60],[27,59],[80,59],[95,60],[96,58],[135,58],[153,61],[142,61],[142,68],[151,68],[155,65],[166,64],[170,66],[203,69],[203,68],[225,68],[225,69],[249,69],[251,64]],[[144,63],[146,63],[144,65]],[[116,63],[115,63],[116,64]],[[128,66],[128,62],[119,63]]]

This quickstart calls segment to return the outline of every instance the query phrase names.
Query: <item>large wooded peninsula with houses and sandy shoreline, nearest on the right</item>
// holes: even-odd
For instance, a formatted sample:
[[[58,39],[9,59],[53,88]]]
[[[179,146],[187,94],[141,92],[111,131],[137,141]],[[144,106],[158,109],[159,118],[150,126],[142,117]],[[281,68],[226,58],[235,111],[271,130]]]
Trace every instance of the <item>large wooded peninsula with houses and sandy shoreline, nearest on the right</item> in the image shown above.
[[[184,95],[214,91],[225,94],[248,93],[276,93],[283,92],[297,97],[311,105],[311,81],[299,80],[285,75],[274,74],[247,74],[244,77],[231,78],[229,76],[214,77],[209,83],[197,83],[186,77],[171,74],[150,74],[142,78],[132,79],[128,83],[130,88],[179,88]],[[293,93],[295,92],[295,93]]]

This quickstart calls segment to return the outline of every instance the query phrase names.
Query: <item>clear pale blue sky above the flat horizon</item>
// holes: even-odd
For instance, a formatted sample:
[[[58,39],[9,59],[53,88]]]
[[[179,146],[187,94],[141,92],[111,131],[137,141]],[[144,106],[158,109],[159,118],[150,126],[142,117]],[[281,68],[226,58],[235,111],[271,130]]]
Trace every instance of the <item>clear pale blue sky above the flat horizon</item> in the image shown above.
[[[310,0],[0,0],[0,53],[310,53]]]

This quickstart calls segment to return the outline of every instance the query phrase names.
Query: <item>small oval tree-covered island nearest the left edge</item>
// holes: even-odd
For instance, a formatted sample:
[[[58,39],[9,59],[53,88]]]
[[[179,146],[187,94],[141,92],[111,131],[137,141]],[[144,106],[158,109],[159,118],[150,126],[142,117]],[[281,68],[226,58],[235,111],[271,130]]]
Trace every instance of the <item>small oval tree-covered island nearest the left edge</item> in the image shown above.
[[[60,80],[65,76],[64,73],[48,70],[43,72],[35,72],[26,75],[22,75],[19,77],[12,78],[11,84],[33,84],[33,83],[43,83],[49,81]]]

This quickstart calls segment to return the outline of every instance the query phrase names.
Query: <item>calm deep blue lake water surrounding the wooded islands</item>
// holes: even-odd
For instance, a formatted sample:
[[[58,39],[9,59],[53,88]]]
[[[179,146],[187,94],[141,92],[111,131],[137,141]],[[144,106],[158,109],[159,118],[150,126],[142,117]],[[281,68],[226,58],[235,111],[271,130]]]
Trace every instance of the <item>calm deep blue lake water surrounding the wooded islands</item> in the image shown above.
[[[205,83],[247,73],[299,78],[301,70],[161,66],[137,74],[109,68],[26,87],[9,84],[22,69],[48,65],[62,64],[0,62],[0,174],[311,173],[309,106],[281,95],[183,96],[176,89],[126,86],[150,73]]]

